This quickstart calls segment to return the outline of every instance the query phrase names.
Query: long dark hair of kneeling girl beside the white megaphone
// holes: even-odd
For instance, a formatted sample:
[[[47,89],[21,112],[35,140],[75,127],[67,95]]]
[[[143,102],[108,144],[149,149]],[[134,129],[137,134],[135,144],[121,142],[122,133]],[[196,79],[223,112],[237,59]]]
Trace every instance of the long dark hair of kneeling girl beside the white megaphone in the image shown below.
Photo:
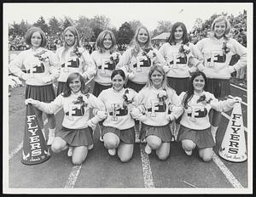
[[[192,96],[194,95],[194,86],[193,86],[193,82],[195,80],[196,76],[202,76],[205,80],[205,86],[204,86],[204,90],[207,91],[207,76],[205,75],[205,73],[201,72],[201,71],[196,71],[193,76],[191,77],[190,81],[189,81],[189,90],[186,92],[185,96],[183,97],[183,106],[187,107],[189,100],[192,98]]]

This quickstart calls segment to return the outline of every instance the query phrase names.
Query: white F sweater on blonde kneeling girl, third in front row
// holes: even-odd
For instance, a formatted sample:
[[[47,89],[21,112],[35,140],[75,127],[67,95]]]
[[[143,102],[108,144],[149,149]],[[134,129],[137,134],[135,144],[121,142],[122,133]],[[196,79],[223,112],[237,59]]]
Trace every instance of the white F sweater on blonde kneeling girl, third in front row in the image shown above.
[[[181,100],[178,98],[177,93],[167,88],[167,98],[162,102],[160,98],[158,98],[158,94],[161,91],[162,88],[144,87],[135,98],[137,108],[146,115],[146,118],[143,120],[143,123],[146,125],[165,126],[168,124],[168,111],[170,106],[172,106],[172,109],[175,109],[171,113],[175,118],[178,118],[183,113]]]

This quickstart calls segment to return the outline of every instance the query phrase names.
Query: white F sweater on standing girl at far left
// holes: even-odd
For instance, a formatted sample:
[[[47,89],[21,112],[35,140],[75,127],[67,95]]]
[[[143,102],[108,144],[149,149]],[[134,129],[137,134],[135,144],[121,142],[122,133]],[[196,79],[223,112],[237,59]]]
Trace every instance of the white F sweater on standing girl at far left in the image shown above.
[[[43,52],[45,52],[43,54]],[[45,59],[40,60],[37,54],[42,53]],[[36,55],[36,56],[35,56]],[[9,71],[15,76],[26,81],[27,85],[45,86],[52,83],[59,76],[57,67],[58,59],[55,58],[55,53],[46,48],[30,48],[20,52],[15,59],[9,63]],[[25,68],[26,73],[21,69]]]

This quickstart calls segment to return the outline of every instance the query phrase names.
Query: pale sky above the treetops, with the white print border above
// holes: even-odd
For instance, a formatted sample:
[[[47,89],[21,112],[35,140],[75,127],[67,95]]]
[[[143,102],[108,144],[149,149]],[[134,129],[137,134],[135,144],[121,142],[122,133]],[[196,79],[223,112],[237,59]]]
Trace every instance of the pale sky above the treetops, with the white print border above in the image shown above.
[[[79,16],[89,19],[96,15],[105,15],[110,25],[117,29],[125,21],[140,20],[149,31],[153,31],[160,20],[172,23],[183,22],[188,31],[192,30],[196,18],[209,19],[212,14],[226,12],[234,16],[244,9],[252,9],[253,3],[3,3],[3,20],[6,23],[30,24],[42,15],[46,22],[55,16],[63,19],[69,16],[78,20]]]

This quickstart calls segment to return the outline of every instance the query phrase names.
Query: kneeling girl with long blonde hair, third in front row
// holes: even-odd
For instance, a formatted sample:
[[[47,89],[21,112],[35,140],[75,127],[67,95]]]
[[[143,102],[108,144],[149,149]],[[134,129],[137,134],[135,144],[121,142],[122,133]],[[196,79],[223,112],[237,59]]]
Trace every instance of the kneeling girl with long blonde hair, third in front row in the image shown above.
[[[172,132],[170,122],[182,113],[181,101],[176,92],[166,84],[166,72],[160,65],[154,65],[148,72],[148,82],[135,98],[137,108],[131,115],[143,122],[141,138],[146,138],[145,152],[156,150],[160,160],[166,160],[170,153]]]

